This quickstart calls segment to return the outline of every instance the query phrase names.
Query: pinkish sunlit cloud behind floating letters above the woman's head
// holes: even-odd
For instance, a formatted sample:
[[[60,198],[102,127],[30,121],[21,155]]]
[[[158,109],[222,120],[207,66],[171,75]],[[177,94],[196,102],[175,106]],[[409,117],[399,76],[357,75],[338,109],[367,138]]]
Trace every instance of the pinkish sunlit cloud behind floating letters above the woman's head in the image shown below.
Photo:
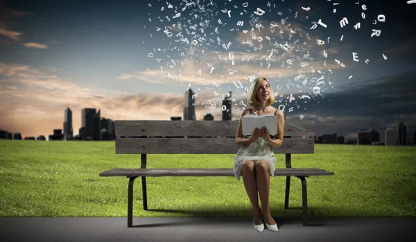
[[[318,9],[314,8],[311,12],[316,10]],[[175,64],[168,61],[168,59],[171,59],[171,53],[168,53],[169,57],[166,64],[166,50],[162,53],[160,49],[157,49],[152,51],[153,57],[147,58],[149,62],[153,62],[155,65],[159,64],[155,63],[156,59],[162,59],[160,66],[157,68],[150,68],[149,71],[122,73],[121,75],[116,76],[116,79],[171,84],[173,86],[183,86],[184,84],[211,85],[214,82],[225,86],[235,86],[234,82],[238,81],[243,84],[249,84],[248,80],[252,75],[255,77],[265,76],[270,79],[278,80],[279,78],[293,78],[297,75],[297,71],[310,71],[311,66],[313,66],[314,69],[331,68],[331,70],[336,70],[343,68],[343,66],[335,62],[334,57],[336,54],[341,54],[339,49],[343,49],[345,45],[336,43],[326,43],[324,46],[318,45],[315,39],[324,39],[322,37],[322,32],[318,30],[309,31],[309,27],[296,22],[296,20],[297,19],[285,21],[284,24],[282,24],[281,21],[277,23],[261,21],[264,29],[261,31],[256,29],[254,32],[256,32],[257,37],[262,37],[263,41],[259,41],[257,37],[252,39],[250,31],[245,34],[239,32],[237,35],[232,35],[230,41],[232,41],[231,50],[234,53],[234,65],[232,65],[232,61],[229,60],[229,52],[231,50],[225,50],[219,46],[217,51],[206,51],[205,53],[201,53],[202,47],[187,44],[184,46],[187,47],[186,49],[179,47],[177,50],[171,50],[174,56],[181,52],[184,53],[182,58],[174,58]],[[279,28],[284,29],[284,39],[281,39],[281,34],[277,27],[273,27],[275,32],[270,31],[270,24],[277,24],[279,25]],[[250,24],[248,22],[245,23],[244,28],[247,28],[247,26],[248,29],[250,29]],[[291,41],[288,41],[289,32],[291,30],[293,37]],[[172,28],[171,31],[179,32],[180,30]],[[296,31],[296,34],[293,33],[293,31]],[[300,35],[302,35],[302,37],[300,37]],[[309,39],[307,35],[309,36]],[[227,36],[225,35],[221,37],[221,39],[225,41],[225,43],[228,42],[225,40],[227,39]],[[270,40],[270,43],[268,39]],[[179,40],[179,38],[175,41],[177,40]],[[300,41],[296,43],[295,41],[297,40]],[[254,46],[241,44],[243,41],[252,41]],[[279,44],[285,44],[286,41],[288,41],[288,44],[293,47],[292,53],[287,53],[286,50],[281,47],[272,46],[272,43],[275,43],[276,41],[278,41]],[[306,46],[304,45],[304,42],[306,43]],[[262,45],[262,48],[260,48],[260,45]],[[304,46],[304,49],[300,48],[300,46]],[[177,46],[175,46],[175,48],[176,47]],[[254,47],[257,48],[255,51]],[[278,50],[278,53],[270,55],[270,51],[273,48]],[[327,59],[324,58],[322,54],[322,51],[325,49],[328,53]],[[295,50],[300,51],[295,52]],[[314,58],[312,61],[309,57],[304,57],[307,52],[306,50],[309,53],[309,57]],[[175,51],[177,51],[177,53],[175,53]],[[285,54],[284,57],[283,54]],[[348,55],[351,55],[351,53]],[[297,56],[302,59],[298,61],[295,59]],[[290,64],[286,62],[287,59],[294,59],[293,65],[290,66]],[[345,60],[343,63],[347,66],[347,64],[352,63],[352,58],[350,59],[351,62]],[[324,61],[326,61],[326,66],[324,66]],[[308,65],[301,66],[302,62],[307,62]],[[284,64],[283,68],[281,67],[282,64]]]

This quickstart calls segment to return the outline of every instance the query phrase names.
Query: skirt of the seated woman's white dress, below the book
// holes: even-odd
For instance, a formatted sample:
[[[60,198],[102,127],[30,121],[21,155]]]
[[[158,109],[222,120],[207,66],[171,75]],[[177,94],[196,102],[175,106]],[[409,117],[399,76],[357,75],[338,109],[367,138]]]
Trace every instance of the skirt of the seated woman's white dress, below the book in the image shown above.
[[[270,176],[275,176],[275,151],[273,151],[272,146],[268,145],[263,138],[260,137],[250,145],[244,145],[237,152],[234,158],[234,176],[236,176],[237,180],[240,180],[241,165],[246,160],[254,160],[254,162],[257,162],[257,160],[266,160],[270,167]]]

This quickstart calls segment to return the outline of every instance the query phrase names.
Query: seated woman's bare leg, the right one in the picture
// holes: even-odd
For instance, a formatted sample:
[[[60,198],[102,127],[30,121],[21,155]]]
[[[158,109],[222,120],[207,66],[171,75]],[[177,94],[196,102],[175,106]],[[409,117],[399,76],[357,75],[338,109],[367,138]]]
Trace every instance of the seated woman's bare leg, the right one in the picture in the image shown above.
[[[263,211],[264,221],[268,225],[276,224],[270,214],[269,194],[270,194],[270,167],[266,160],[258,160],[254,166],[256,171],[257,190],[261,200],[261,210]]]

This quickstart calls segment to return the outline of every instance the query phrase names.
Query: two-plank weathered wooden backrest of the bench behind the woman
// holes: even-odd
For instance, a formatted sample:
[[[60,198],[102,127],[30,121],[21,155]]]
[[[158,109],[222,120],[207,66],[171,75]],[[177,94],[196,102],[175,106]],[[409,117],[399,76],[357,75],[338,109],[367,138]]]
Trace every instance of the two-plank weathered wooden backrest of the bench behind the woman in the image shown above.
[[[116,120],[116,153],[236,153],[239,120]],[[286,121],[275,153],[313,153],[315,122]],[[200,138],[196,138],[200,137]]]

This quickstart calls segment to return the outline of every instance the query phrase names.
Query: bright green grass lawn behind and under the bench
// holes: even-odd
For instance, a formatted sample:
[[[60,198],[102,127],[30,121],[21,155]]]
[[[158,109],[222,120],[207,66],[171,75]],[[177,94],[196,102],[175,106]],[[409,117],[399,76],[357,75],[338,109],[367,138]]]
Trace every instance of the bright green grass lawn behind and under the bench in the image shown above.
[[[276,155],[277,168],[284,155]],[[148,155],[148,168],[232,168],[234,155]],[[127,216],[128,178],[102,171],[137,168],[139,155],[116,155],[114,142],[0,140],[0,216]],[[315,145],[293,167],[335,176],[306,178],[309,216],[416,216],[416,147]],[[135,181],[134,216],[252,216],[243,180],[148,177],[148,210]],[[270,179],[272,216],[302,216],[298,178]]]

